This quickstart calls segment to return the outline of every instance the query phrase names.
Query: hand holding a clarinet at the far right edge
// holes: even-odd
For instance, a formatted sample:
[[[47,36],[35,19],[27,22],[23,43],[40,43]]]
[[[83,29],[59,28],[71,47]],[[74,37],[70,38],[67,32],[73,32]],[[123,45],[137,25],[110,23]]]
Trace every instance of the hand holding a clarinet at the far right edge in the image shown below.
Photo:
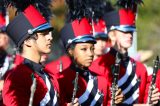
[[[160,99],[160,92],[158,88],[156,88],[152,91],[151,103],[155,105],[158,103],[159,99]]]

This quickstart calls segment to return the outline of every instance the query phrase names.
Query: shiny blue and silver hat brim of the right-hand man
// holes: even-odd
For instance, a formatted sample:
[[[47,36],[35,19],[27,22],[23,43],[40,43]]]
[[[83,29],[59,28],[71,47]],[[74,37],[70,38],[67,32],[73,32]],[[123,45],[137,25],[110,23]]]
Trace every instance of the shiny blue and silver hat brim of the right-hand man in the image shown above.
[[[119,30],[121,32],[135,32],[136,27],[135,26],[129,26],[129,25],[120,25],[120,26],[111,26],[111,30]]]

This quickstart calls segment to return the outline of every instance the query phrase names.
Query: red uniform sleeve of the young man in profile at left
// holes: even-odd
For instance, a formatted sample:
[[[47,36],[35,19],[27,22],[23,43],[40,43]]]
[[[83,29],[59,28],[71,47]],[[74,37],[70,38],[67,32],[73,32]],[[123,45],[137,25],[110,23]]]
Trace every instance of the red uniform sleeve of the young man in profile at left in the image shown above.
[[[21,73],[11,73],[7,76],[2,92],[6,106],[28,106],[30,86],[26,78],[30,77]]]

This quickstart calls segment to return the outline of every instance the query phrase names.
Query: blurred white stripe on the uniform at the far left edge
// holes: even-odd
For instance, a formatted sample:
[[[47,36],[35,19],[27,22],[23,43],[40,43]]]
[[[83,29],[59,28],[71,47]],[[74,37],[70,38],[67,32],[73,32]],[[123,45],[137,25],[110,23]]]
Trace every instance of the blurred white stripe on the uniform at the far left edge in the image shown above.
[[[0,68],[0,78],[4,76],[8,68],[9,68],[9,57],[6,56],[3,67]]]

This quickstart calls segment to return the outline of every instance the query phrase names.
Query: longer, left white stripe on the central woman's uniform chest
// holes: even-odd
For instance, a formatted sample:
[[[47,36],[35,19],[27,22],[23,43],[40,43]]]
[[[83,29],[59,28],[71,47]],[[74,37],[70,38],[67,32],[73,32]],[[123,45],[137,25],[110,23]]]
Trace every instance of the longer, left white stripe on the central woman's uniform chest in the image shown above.
[[[89,94],[92,91],[93,86],[94,86],[93,82],[94,82],[94,79],[89,78],[87,89],[86,89],[85,93],[79,98],[79,103],[80,104],[82,104],[83,102],[85,102],[88,99]]]

